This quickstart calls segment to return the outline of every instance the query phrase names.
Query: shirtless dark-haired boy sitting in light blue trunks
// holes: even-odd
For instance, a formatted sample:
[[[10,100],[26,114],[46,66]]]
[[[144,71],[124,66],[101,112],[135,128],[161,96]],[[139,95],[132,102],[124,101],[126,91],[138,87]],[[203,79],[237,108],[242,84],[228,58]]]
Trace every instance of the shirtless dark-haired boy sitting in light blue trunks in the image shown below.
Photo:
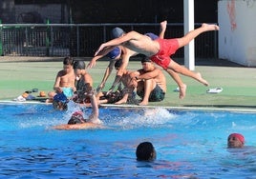
[[[63,70],[59,70],[55,77],[53,86],[54,91],[48,93],[49,99],[47,102],[53,102],[53,97],[56,93],[63,92],[67,98],[73,96],[75,89],[75,71],[73,69],[73,58],[65,57],[63,60]]]

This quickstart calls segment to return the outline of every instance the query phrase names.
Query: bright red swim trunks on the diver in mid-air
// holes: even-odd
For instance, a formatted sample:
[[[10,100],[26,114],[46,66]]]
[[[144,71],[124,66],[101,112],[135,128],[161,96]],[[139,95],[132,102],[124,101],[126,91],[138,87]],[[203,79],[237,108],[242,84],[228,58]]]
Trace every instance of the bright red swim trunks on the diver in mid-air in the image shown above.
[[[179,49],[178,39],[156,39],[160,43],[160,50],[150,59],[166,70],[171,62],[170,55],[174,54]]]

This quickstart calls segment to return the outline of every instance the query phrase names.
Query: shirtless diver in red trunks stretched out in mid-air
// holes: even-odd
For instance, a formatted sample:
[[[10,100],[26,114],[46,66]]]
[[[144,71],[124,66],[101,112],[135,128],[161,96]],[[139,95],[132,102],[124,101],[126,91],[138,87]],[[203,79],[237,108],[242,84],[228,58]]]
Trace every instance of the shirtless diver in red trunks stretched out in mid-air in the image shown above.
[[[160,65],[163,70],[166,70],[176,82],[181,80],[181,78],[179,79],[178,75],[178,73],[181,73],[183,75],[194,78],[204,86],[208,86],[208,82],[203,79],[201,73],[196,73],[180,66],[178,63],[171,60],[170,55],[174,54],[176,50],[189,44],[190,41],[192,41],[201,33],[210,30],[219,30],[219,27],[217,25],[203,24],[200,28],[189,31],[181,38],[158,38],[156,40],[151,40],[150,38],[140,34],[137,31],[130,31],[123,36],[120,36],[119,38],[101,44],[98,50],[96,50],[95,55],[97,55],[100,51],[105,50],[106,48],[121,45],[127,49],[137,51],[138,53],[150,57],[153,62]],[[185,95],[186,86],[181,86],[181,83],[178,83],[178,86],[180,88],[180,98],[183,98]]]

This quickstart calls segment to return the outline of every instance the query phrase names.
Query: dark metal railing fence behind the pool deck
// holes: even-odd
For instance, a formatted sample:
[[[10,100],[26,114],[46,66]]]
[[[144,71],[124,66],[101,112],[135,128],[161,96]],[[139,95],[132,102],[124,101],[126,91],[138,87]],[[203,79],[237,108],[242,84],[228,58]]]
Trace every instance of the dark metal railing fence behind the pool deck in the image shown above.
[[[200,25],[196,25],[197,28]],[[0,55],[4,56],[93,56],[98,46],[110,40],[110,31],[137,30],[159,33],[159,24],[2,24]],[[183,36],[183,24],[168,24],[165,38]],[[195,39],[196,57],[218,56],[218,33],[209,31]],[[174,57],[183,57],[183,49]]]

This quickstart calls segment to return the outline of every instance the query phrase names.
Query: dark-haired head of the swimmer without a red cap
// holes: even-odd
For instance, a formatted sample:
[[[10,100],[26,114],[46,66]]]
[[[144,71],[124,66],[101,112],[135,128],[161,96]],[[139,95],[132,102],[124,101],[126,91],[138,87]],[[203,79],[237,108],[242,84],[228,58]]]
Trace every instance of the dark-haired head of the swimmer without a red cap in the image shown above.
[[[157,152],[150,142],[142,142],[136,149],[137,160],[153,161],[157,158]]]

